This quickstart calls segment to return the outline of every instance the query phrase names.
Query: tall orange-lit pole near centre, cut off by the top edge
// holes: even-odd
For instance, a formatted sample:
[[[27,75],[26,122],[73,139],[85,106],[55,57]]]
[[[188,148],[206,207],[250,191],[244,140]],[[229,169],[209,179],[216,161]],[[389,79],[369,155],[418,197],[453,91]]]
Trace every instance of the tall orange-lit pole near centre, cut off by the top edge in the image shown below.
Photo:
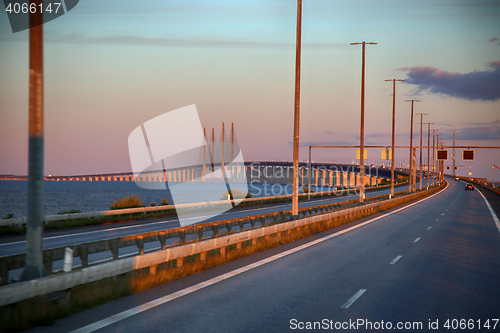
[[[302,0],[297,0],[297,42],[295,50],[295,110],[293,120],[293,191],[292,219],[299,217],[299,125],[300,125],[300,50]]]

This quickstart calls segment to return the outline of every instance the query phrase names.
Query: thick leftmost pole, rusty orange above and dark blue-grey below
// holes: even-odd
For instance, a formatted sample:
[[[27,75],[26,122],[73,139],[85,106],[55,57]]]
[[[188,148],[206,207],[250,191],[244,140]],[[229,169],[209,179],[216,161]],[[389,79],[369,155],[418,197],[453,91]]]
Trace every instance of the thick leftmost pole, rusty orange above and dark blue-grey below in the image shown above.
[[[42,0],[30,1],[30,7]],[[47,275],[43,266],[43,14],[29,14],[29,162],[26,260],[21,281]]]

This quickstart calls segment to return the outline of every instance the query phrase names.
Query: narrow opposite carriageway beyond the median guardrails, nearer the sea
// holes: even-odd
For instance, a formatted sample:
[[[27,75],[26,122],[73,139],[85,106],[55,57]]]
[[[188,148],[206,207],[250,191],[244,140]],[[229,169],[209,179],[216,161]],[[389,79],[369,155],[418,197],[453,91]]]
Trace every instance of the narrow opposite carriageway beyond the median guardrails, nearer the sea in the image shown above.
[[[405,191],[407,189],[408,189],[407,185],[402,185],[396,187],[395,191],[396,192]],[[390,193],[390,189],[374,190],[366,192],[366,196],[371,197],[388,193]],[[345,200],[353,200],[357,197],[358,195],[352,194],[349,196],[341,196],[341,197],[334,196],[330,198],[311,199],[309,201],[301,200],[299,202],[299,207],[303,208],[303,207],[310,207],[327,203],[340,202]],[[290,209],[292,209],[291,203],[281,203],[269,206],[255,206],[243,209],[236,208],[236,209],[231,209],[221,215],[210,218],[204,222],[220,221],[224,219],[246,217],[257,214],[267,214],[267,213],[290,210]],[[45,235],[43,239],[43,248],[51,249],[62,246],[71,246],[102,239],[130,236],[150,231],[165,230],[177,227],[179,227],[179,222],[177,220],[177,217],[171,216],[162,218],[161,220],[157,220],[154,222],[143,221],[133,224],[126,223],[125,225],[121,226],[115,225],[115,226],[102,226],[100,228],[89,228],[90,231],[89,229],[86,230],[85,228],[79,228],[77,231],[68,229],[67,231],[64,232],[58,232],[58,234],[56,235],[51,235],[51,233],[49,233],[49,235]],[[25,238],[24,236],[22,238],[18,237],[18,239],[16,239],[15,241],[0,240],[0,257],[26,252],[26,241],[24,240],[24,238]],[[147,247],[145,248],[146,251],[151,250],[150,248],[148,248],[148,246],[154,246],[154,245],[153,244],[147,245]],[[136,251],[136,249],[130,249],[130,251]],[[129,253],[130,251],[126,252]],[[109,256],[109,254],[105,255]],[[102,260],[102,259],[104,258],[98,256],[96,257],[95,260]],[[94,259],[90,258],[90,260]],[[78,264],[78,260],[76,264]]]

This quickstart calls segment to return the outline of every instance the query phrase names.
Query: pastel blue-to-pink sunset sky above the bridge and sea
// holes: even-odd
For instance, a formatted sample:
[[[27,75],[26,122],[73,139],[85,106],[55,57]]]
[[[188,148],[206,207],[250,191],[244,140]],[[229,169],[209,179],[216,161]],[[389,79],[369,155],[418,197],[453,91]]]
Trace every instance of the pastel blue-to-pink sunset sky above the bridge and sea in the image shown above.
[[[404,79],[396,145],[409,144],[405,100],[419,99],[415,114],[427,113],[445,144],[455,131],[457,145],[500,146],[500,1],[303,0],[302,10],[300,159],[308,145],[359,144],[361,46],[350,43],[362,41],[377,43],[366,46],[365,144],[390,145],[384,80]],[[128,135],[192,104],[207,132],[234,123],[245,159],[291,160],[296,11],[292,0],[82,0],[47,22],[44,173],[131,171]],[[2,2],[0,174],[27,174],[28,53],[28,31],[12,32]],[[418,142],[420,116],[414,132]],[[355,151],[313,154],[342,157]],[[380,149],[368,151],[379,159]],[[457,164],[459,175],[471,165],[491,179],[500,150]]]

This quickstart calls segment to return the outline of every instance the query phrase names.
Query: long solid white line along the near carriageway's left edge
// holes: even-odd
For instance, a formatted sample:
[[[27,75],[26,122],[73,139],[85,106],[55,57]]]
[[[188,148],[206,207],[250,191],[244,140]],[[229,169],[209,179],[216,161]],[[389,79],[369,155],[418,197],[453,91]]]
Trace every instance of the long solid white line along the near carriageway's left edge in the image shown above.
[[[269,258],[259,260],[259,261],[255,262],[255,263],[249,264],[249,265],[247,265],[247,266],[240,267],[240,268],[238,268],[238,269],[236,269],[236,270],[234,270],[234,271],[231,271],[231,272],[225,273],[225,274],[223,274],[223,275],[220,275],[220,276],[218,276],[218,277],[212,278],[212,279],[207,280],[207,281],[205,281],[205,282],[201,282],[201,283],[195,284],[194,286],[191,286],[191,287],[188,287],[188,288],[185,288],[185,289],[182,289],[182,290],[176,291],[176,292],[174,292],[174,293],[172,293],[172,294],[170,294],[170,295],[166,295],[166,296],[163,296],[163,297],[157,298],[157,299],[152,300],[152,301],[150,301],[150,302],[147,302],[147,303],[141,304],[141,305],[139,305],[139,306],[136,306],[136,307],[134,307],[134,308],[132,308],[132,309],[129,309],[129,310],[126,310],[126,311],[123,311],[123,312],[117,313],[117,314],[115,314],[115,315],[113,315],[113,316],[110,316],[110,317],[108,317],[108,318],[105,318],[105,319],[99,320],[99,321],[97,321],[97,322],[95,322],[95,323],[93,323],[93,324],[90,324],[90,325],[84,326],[84,327],[79,328],[79,329],[77,329],[77,330],[74,330],[74,331],[72,331],[72,332],[70,332],[70,333],[90,333],[90,332],[97,331],[97,330],[99,330],[99,329],[101,329],[101,328],[104,328],[104,327],[106,327],[106,326],[109,326],[109,325],[111,325],[111,324],[114,324],[114,323],[116,323],[116,322],[119,322],[119,321],[124,320],[124,319],[126,319],[126,318],[132,317],[132,316],[134,316],[134,315],[136,315],[136,314],[138,314],[138,313],[144,312],[144,311],[149,310],[149,309],[151,309],[151,308],[154,308],[154,307],[156,307],[156,306],[158,306],[158,305],[161,305],[161,304],[164,304],[164,303],[170,302],[170,301],[172,301],[172,300],[174,300],[174,299],[176,299],[176,298],[182,297],[182,296],[187,295],[187,294],[190,294],[190,293],[192,293],[192,292],[194,292],[194,291],[197,291],[197,290],[200,290],[200,289],[202,289],[202,288],[205,288],[205,287],[211,286],[211,285],[213,285],[213,284],[215,284],[215,283],[217,283],[217,282],[220,282],[220,281],[223,281],[223,280],[227,280],[227,279],[229,279],[229,278],[231,278],[231,277],[233,277],[233,276],[235,276],[235,275],[238,275],[238,274],[244,273],[244,272],[246,272],[246,271],[249,271],[249,270],[251,270],[252,268],[256,268],[256,267],[262,266],[262,265],[264,265],[264,264],[267,264],[267,263],[269,263],[269,262],[271,262],[271,261],[274,261],[274,260],[277,260],[277,259],[283,258],[283,257],[285,257],[285,256],[287,256],[287,255],[289,255],[289,254],[292,254],[292,253],[298,252],[298,251],[300,251],[300,250],[306,249],[306,248],[308,248],[308,247],[310,247],[310,246],[313,246],[313,245],[316,245],[316,244],[321,243],[321,242],[323,242],[323,241],[326,241],[326,240],[328,240],[328,239],[331,239],[331,238],[334,238],[334,237],[340,236],[340,235],[345,234],[345,233],[347,233],[347,232],[349,232],[349,231],[351,231],[351,230],[357,229],[357,228],[362,227],[362,226],[364,226],[364,225],[366,225],[366,224],[369,224],[369,223],[375,222],[375,221],[377,221],[377,220],[379,220],[379,219],[381,219],[381,218],[384,218],[384,217],[386,217],[386,216],[392,215],[392,214],[394,214],[394,213],[397,213],[397,212],[399,212],[399,211],[402,211],[402,210],[404,210],[404,209],[407,209],[407,208],[409,208],[409,207],[412,207],[412,206],[414,206],[414,205],[416,205],[416,204],[419,204],[419,203],[421,203],[421,202],[423,202],[423,201],[429,200],[430,198],[432,198],[432,197],[434,197],[434,196],[436,196],[436,195],[438,195],[438,194],[440,194],[440,193],[443,193],[443,192],[444,192],[447,188],[448,188],[448,184],[446,184],[446,187],[445,187],[444,189],[442,189],[441,191],[439,191],[439,192],[437,192],[437,193],[434,193],[433,195],[428,196],[428,197],[426,197],[426,198],[424,198],[424,199],[422,199],[422,200],[416,201],[416,202],[411,203],[411,204],[409,204],[409,205],[407,205],[407,206],[404,206],[404,207],[401,207],[401,208],[399,208],[399,209],[396,209],[396,210],[394,210],[394,211],[392,211],[392,212],[386,213],[386,214],[381,215],[381,216],[379,216],[379,217],[375,217],[375,218],[370,219],[370,220],[368,220],[368,221],[365,221],[365,222],[363,222],[363,223],[359,223],[359,224],[357,224],[357,225],[355,225],[355,226],[352,226],[352,227],[346,228],[346,229],[341,230],[341,231],[339,231],[339,232],[336,232],[336,233],[334,233],[334,234],[331,234],[331,235],[328,235],[328,236],[325,236],[325,237],[322,237],[322,238],[316,239],[316,240],[314,240],[314,241],[311,241],[311,242],[309,242],[309,243],[306,243],[306,244],[300,245],[300,246],[295,247],[295,248],[293,248],[293,249],[290,249],[290,250],[287,250],[287,251],[284,251],[284,252],[278,253],[278,254],[276,254],[276,255],[274,255],[274,256],[271,256],[271,257],[269,257]],[[362,290],[363,290],[363,291],[362,291]],[[362,291],[362,292],[361,292],[361,291]],[[360,292],[361,292],[361,294],[360,294],[359,296],[361,296],[361,295],[362,295],[365,291],[366,291],[366,289],[361,289],[360,291],[358,291],[358,293],[360,293]],[[354,295],[354,296],[356,296],[356,295]],[[354,296],[353,296],[353,297],[354,297]],[[358,296],[357,298],[359,298],[359,296]],[[356,299],[357,299],[357,298],[356,298]],[[355,300],[356,300],[356,299],[355,299]],[[354,301],[355,301],[355,300],[354,300]],[[349,301],[350,301],[350,300],[349,300]],[[348,303],[349,303],[349,301],[348,301]],[[353,301],[353,302],[354,302],[354,301]],[[347,304],[347,303],[346,303],[346,304]],[[344,304],[344,305],[346,305],[346,304]],[[351,304],[352,304],[352,303],[351,303]],[[349,306],[350,306],[350,304],[349,304],[347,307],[349,307]]]

